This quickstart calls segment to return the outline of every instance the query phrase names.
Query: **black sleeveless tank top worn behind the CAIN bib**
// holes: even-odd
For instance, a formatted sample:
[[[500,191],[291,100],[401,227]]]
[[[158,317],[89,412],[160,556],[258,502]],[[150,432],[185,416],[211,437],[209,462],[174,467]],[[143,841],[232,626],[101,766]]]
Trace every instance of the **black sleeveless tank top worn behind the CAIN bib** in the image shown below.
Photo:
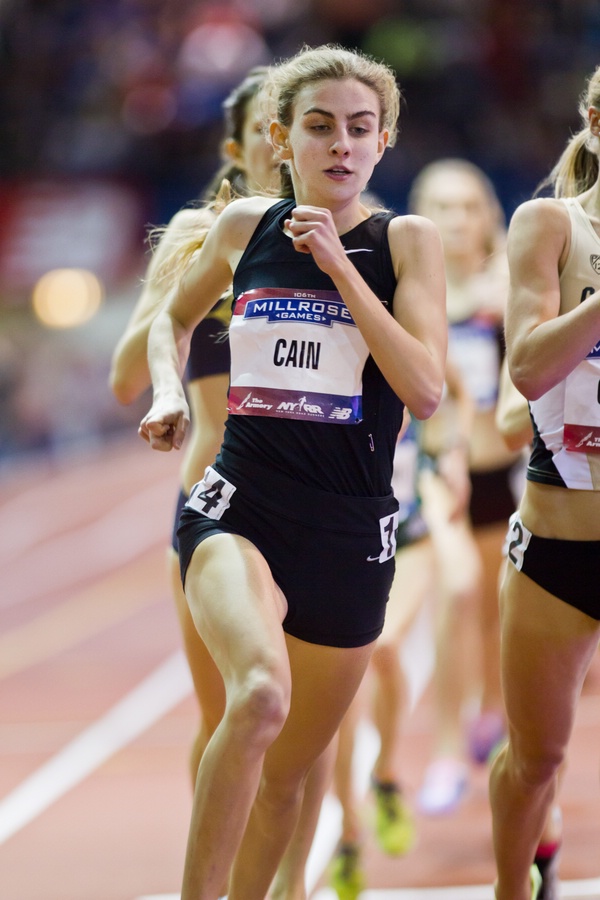
[[[256,288],[335,291],[310,254],[298,253],[283,231],[295,201],[271,206],[254,232],[233,280],[234,297]],[[387,238],[395,213],[376,212],[341,236],[365,282],[392,314],[396,278]],[[350,496],[391,490],[394,448],[404,404],[369,355],[362,373],[363,417],[357,424],[229,415],[222,461],[244,459],[304,484]]]

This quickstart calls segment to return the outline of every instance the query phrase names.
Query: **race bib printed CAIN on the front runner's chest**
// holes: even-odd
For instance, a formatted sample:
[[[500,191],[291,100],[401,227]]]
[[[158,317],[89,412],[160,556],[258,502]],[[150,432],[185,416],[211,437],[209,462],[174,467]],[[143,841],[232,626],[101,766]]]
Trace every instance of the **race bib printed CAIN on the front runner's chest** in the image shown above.
[[[237,299],[229,411],[353,425],[368,347],[337,291],[260,288]]]

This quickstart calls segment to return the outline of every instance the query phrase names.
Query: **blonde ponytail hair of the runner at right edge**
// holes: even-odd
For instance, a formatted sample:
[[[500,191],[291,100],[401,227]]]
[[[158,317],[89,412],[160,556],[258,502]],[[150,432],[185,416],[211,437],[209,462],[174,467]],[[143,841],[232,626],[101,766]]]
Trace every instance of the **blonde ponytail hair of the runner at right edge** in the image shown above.
[[[597,181],[600,140],[590,131],[590,106],[600,110],[600,66],[588,78],[579,99],[582,126],[568,141],[550,175],[537,187],[536,195],[550,187],[555,197],[576,197]]]

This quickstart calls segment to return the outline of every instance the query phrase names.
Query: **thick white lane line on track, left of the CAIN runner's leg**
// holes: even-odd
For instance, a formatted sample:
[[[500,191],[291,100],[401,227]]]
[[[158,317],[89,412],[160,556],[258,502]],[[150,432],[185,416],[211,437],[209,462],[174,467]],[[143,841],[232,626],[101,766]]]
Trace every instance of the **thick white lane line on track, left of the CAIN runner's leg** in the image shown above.
[[[0,844],[142,734],[191,690],[189,668],[178,650],[0,801]]]

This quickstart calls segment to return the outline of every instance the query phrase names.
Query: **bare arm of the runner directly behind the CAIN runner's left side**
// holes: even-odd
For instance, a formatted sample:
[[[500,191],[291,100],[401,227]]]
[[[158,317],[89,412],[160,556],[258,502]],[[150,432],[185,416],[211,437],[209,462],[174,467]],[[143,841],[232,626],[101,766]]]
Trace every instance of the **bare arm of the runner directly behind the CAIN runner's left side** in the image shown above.
[[[208,209],[183,209],[171,219],[156,246],[141,294],[112,356],[109,382],[119,403],[132,403],[150,386],[148,334],[168,295],[167,279],[159,274],[161,266],[183,236],[194,228],[201,232],[213,220]]]

